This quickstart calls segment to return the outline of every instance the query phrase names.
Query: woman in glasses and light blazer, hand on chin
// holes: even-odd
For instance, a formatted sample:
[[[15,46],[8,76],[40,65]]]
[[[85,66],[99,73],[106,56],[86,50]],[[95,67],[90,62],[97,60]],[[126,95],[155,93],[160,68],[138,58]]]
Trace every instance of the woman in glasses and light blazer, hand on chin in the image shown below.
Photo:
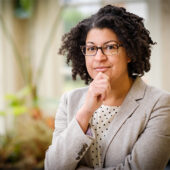
[[[161,170],[170,158],[170,94],[146,85],[155,43],[143,19],[107,5],[63,37],[72,76],[61,98],[47,170]]]

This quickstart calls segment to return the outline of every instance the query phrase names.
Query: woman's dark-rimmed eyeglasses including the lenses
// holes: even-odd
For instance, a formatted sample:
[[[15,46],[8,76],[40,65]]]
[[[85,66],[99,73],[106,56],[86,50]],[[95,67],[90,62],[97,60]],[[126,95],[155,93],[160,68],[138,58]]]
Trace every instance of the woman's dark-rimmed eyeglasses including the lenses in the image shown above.
[[[82,45],[80,46],[80,48],[85,56],[95,56],[97,54],[98,49],[101,49],[104,55],[112,56],[116,55],[118,53],[118,49],[122,46],[122,44],[109,42],[102,45],[101,47],[97,47],[95,45]]]

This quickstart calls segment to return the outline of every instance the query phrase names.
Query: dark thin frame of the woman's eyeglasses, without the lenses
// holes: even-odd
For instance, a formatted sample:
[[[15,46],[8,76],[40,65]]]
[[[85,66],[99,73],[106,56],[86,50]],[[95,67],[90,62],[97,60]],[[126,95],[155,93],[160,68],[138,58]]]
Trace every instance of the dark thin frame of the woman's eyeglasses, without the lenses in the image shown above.
[[[95,52],[95,54],[93,54],[93,55],[86,55],[86,54],[84,53],[83,48],[84,48],[84,47],[87,47],[88,45],[80,45],[80,49],[81,49],[81,51],[82,51],[82,53],[83,53],[84,56],[95,56],[95,55],[97,54],[97,52],[98,52],[98,49],[100,49],[104,55],[107,55],[107,56],[108,56],[108,54],[105,54],[105,53],[104,53],[103,48],[104,48],[104,45],[106,45],[106,44],[108,44],[108,43],[110,43],[110,42],[115,42],[115,43],[116,43],[116,44],[114,44],[114,45],[116,45],[116,47],[117,47],[117,48],[116,48],[117,52],[118,52],[118,49],[119,49],[120,47],[123,47],[123,44],[119,44],[118,42],[116,42],[116,41],[114,41],[114,40],[111,40],[111,41],[108,41],[108,42],[104,43],[104,44],[103,44],[102,46],[100,46],[100,47],[98,47],[98,46],[96,46],[96,45],[93,45],[93,47],[96,48],[96,52]],[[90,46],[89,46],[89,47],[90,47]],[[111,55],[114,55],[114,54],[111,54]],[[110,55],[110,56],[111,56],[111,55]]]

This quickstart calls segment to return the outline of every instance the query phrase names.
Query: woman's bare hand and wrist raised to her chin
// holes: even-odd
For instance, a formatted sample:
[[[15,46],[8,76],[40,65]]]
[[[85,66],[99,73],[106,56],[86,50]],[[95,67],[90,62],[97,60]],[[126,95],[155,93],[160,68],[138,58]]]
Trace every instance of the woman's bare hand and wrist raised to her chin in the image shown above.
[[[98,73],[91,82],[84,105],[76,114],[76,119],[84,132],[86,132],[89,120],[107,98],[111,89],[110,80],[104,73]]]

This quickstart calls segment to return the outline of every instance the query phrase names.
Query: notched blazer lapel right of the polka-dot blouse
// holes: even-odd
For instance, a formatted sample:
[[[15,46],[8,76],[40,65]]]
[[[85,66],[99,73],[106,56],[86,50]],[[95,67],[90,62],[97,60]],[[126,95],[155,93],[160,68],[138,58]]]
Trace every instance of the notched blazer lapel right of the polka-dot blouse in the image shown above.
[[[104,143],[101,148],[102,162],[104,162],[105,154],[111,141],[114,140],[114,137],[118,133],[119,129],[139,106],[137,101],[143,98],[145,89],[146,84],[142,81],[141,78],[137,78],[129,93],[127,94],[124,102],[122,103],[119,113],[115,115],[112,123],[110,124],[106,143]]]

